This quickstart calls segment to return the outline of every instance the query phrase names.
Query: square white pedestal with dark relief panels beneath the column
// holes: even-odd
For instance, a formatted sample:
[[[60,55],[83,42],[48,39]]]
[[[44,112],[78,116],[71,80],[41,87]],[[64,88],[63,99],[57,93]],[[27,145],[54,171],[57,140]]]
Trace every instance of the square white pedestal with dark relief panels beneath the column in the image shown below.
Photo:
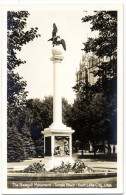
[[[64,163],[74,162],[72,159],[73,132],[74,130],[69,127],[64,129],[50,127],[44,130],[44,160],[47,170],[61,165],[62,161]]]

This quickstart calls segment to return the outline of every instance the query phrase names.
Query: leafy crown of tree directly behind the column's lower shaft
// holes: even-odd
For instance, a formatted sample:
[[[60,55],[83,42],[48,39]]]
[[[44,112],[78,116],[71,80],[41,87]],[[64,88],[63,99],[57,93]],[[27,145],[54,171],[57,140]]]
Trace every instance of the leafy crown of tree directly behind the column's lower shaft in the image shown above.
[[[26,103],[29,114],[27,117],[30,124],[44,130],[53,122],[53,97],[47,96],[43,100],[29,99]],[[63,123],[68,123],[68,118],[71,111],[71,105],[65,98],[62,98],[62,116]]]

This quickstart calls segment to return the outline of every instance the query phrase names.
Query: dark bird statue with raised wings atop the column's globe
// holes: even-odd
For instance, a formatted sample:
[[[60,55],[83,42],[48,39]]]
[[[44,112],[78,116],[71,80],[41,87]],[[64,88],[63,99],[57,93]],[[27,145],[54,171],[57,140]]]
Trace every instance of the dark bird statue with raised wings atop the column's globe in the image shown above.
[[[53,31],[52,31],[52,38],[48,41],[52,41],[53,47],[55,45],[62,45],[63,49],[66,51],[66,43],[64,39],[61,39],[60,36],[57,36],[58,28],[55,23],[53,23]]]

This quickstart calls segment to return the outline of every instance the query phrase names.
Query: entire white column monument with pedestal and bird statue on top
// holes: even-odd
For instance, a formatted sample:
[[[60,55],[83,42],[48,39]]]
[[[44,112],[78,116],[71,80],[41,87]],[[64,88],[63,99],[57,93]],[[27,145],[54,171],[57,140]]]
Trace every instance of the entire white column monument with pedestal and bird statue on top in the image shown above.
[[[46,169],[51,169],[61,162],[73,162],[72,159],[72,133],[74,130],[62,123],[62,97],[61,97],[61,64],[66,44],[57,36],[57,26],[53,24],[52,58],[53,62],[53,123],[44,129],[44,159]]]

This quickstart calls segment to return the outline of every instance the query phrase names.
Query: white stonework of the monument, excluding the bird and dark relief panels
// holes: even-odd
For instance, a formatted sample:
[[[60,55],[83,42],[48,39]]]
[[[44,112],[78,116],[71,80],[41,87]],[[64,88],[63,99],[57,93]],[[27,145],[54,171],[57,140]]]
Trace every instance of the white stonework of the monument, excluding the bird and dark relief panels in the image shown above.
[[[62,49],[63,50],[63,49]],[[52,49],[52,58],[51,61],[53,62],[53,123],[46,129],[44,129],[43,134],[47,141],[51,140],[51,148],[49,151],[48,143],[46,142],[45,151],[48,151],[47,155],[45,155],[46,167],[51,169],[51,167],[55,167],[61,165],[61,162],[73,162],[72,159],[72,130],[71,127],[67,127],[62,123],[62,60],[63,60],[63,51],[60,47],[53,47]],[[57,146],[55,143],[55,136],[65,138],[69,137],[69,155],[58,154],[54,155],[54,149]],[[50,143],[49,143],[50,144]],[[63,144],[59,144],[59,147],[62,147]],[[50,160],[49,160],[50,158]]]

